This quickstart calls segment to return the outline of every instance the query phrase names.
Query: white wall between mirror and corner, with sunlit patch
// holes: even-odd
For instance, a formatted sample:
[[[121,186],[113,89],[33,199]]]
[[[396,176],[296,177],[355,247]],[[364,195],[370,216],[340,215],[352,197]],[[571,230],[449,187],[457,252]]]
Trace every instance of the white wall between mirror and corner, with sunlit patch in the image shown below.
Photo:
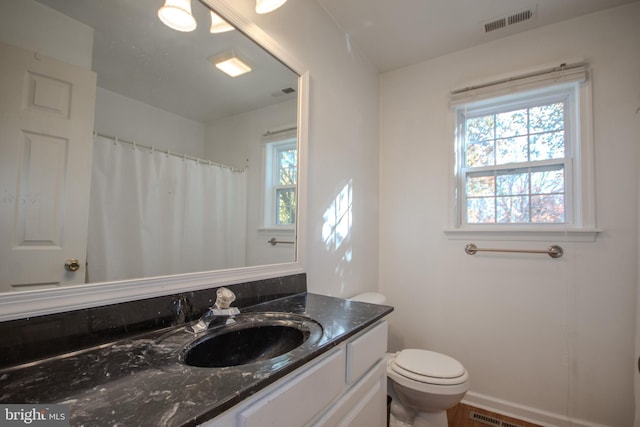
[[[377,288],[378,73],[315,1],[289,1],[257,15],[228,2],[310,71],[306,248],[308,288],[351,296]],[[323,239],[325,215],[352,187],[352,226],[340,245]],[[325,227],[325,235],[329,234]]]

